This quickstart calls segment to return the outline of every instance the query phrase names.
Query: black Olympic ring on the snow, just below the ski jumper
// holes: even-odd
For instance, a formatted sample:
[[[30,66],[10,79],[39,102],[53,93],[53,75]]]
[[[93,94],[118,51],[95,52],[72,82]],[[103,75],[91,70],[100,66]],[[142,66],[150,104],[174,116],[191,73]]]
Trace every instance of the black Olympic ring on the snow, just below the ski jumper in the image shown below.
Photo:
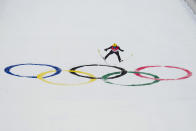
[[[127,71],[121,67],[117,67],[117,66],[110,66],[110,65],[99,65],[99,64],[91,64],[91,65],[81,65],[81,66],[77,66],[77,67],[73,67],[72,69],[70,70],[76,70],[78,68],[81,68],[81,67],[85,67],[85,66],[106,66],[106,67],[113,67],[113,68],[116,68],[116,69],[119,69],[121,70],[121,73],[119,75],[116,75],[116,76],[113,76],[113,77],[109,77],[108,79],[114,79],[114,78],[118,78],[118,77],[121,77],[125,74],[127,74]],[[80,74],[77,74],[76,72],[70,72],[71,74],[74,74],[74,75],[77,75],[79,77],[84,77],[84,78],[89,78],[89,79],[102,79],[102,77],[90,77],[90,76],[83,76],[83,75],[80,75]]]

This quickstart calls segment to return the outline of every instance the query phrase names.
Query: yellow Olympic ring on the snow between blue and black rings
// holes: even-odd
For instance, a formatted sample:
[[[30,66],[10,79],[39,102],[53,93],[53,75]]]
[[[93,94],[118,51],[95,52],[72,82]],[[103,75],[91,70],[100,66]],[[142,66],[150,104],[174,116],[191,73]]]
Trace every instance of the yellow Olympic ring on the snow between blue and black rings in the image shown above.
[[[75,71],[75,70],[63,70],[63,71],[76,72],[76,73],[81,73],[81,74],[88,75],[90,77],[95,77],[94,75],[92,75],[90,73],[81,72],[81,71]],[[82,82],[82,83],[78,83],[78,84],[66,84],[66,83],[55,83],[55,82],[51,82],[51,81],[48,81],[48,80],[46,80],[46,79],[43,78],[46,74],[53,73],[53,72],[56,72],[56,71],[55,70],[52,70],[52,71],[43,72],[43,73],[37,75],[37,78],[40,79],[43,82],[48,83],[48,84],[59,85],[59,86],[79,86],[79,85],[89,84],[89,83],[94,82],[96,80],[96,79],[90,79],[87,82]]]

